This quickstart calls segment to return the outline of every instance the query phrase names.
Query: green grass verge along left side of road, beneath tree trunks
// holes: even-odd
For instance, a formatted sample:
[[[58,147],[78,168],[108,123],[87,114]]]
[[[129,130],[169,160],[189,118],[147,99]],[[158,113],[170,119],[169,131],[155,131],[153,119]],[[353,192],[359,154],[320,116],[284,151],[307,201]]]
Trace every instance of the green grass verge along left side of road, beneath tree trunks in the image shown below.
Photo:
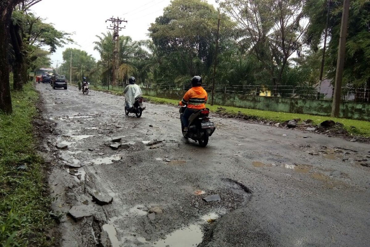
[[[50,198],[31,124],[38,94],[28,83],[11,96],[13,113],[0,113],[0,246],[50,246]]]

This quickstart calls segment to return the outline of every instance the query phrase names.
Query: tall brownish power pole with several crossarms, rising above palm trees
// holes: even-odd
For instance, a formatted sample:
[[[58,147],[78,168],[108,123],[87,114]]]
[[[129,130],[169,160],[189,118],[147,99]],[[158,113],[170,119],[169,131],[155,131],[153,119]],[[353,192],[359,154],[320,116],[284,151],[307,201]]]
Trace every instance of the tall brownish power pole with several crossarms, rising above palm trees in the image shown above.
[[[120,53],[119,53],[119,49],[120,49],[120,39],[119,39],[119,31],[121,31],[122,29],[124,29],[126,26],[120,26],[122,24],[122,22],[126,22],[127,21],[125,19],[120,19],[120,17],[117,17],[117,18],[114,18],[113,16],[108,19],[108,20],[105,20],[105,22],[107,21],[110,21],[112,24],[108,27],[107,26],[107,29],[110,29],[110,30],[113,30],[113,61],[112,61],[112,64],[113,64],[113,85],[117,85],[117,80],[118,80],[118,69],[120,68]]]

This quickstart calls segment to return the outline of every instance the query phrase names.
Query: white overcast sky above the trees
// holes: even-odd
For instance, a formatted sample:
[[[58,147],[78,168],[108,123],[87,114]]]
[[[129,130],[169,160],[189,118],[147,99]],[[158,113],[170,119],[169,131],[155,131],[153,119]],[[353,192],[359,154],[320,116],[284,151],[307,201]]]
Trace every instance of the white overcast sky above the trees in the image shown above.
[[[218,6],[215,0],[207,1]],[[71,37],[77,44],[67,44],[51,55],[55,67],[57,60],[59,64],[63,61],[62,52],[68,47],[85,50],[99,59],[92,42],[97,41],[96,35],[108,31],[105,20],[112,16],[128,21],[126,29],[120,35],[131,36],[133,40],[148,39],[150,23],[163,14],[163,8],[170,2],[171,0],[43,0],[35,4],[32,10],[37,16],[46,19],[46,22],[53,23],[57,30],[74,33]]]

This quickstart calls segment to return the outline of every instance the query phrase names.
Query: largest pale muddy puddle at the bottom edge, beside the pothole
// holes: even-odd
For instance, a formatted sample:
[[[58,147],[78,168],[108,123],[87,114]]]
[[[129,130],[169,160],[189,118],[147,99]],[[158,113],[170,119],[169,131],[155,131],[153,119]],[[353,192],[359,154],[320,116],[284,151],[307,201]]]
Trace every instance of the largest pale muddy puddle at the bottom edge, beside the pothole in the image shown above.
[[[202,240],[203,233],[201,227],[198,225],[191,225],[168,234],[164,240],[156,242],[155,246],[192,247],[200,244]]]

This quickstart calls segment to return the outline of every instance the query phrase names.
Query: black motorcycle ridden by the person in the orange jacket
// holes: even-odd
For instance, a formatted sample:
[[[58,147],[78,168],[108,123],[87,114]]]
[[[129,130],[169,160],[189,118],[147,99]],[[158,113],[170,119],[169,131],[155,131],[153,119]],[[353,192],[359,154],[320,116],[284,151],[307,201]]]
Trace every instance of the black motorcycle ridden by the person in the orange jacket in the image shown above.
[[[191,138],[194,141],[199,142],[199,146],[205,147],[208,144],[208,138],[215,132],[215,124],[209,121],[209,109],[205,108],[202,110],[195,111],[189,117],[188,130],[184,131],[184,124],[182,123],[182,115],[184,114],[186,107],[180,107],[180,121],[182,135],[185,138]]]

